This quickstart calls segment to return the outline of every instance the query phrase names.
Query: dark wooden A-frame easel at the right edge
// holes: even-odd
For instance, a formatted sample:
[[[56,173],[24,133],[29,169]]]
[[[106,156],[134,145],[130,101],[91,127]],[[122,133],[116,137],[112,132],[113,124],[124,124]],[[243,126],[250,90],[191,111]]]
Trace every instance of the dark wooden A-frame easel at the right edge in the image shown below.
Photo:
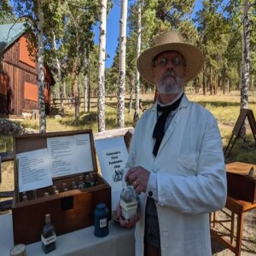
[[[240,132],[241,132],[241,127],[242,127],[246,118],[249,121],[249,125],[251,127],[252,132],[253,132],[254,141],[256,143],[256,122],[255,122],[253,110],[252,109],[241,109],[240,114],[238,116],[238,119],[236,120],[236,125],[234,126],[234,129],[232,131],[232,135],[230,137],[230,142],[228,143],[228,146],[227,146],[227,148],[225,149],[225,152],[224,152],[224,154],[227,157],[230,156],[231,150],[234,147],[234,144],[236,143],[236,138],[239,137]],[[233,139],[234,135],[235,135],[235,138],[232,142],[232,139]],[[230,148],[230,145],[231,145],[231,148]],[[230,148],[230,150],[228,151],[229,148]]]

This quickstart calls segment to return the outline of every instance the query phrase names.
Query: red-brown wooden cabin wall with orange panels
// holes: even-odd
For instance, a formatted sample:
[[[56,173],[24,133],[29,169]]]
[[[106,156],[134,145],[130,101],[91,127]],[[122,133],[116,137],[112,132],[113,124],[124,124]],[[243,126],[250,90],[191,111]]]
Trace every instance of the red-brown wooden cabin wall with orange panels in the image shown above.
[[[45,109],[49,113],[50,85],[53,79],[44,68]],[[0,114],[20,116],[38,109],[38,64],[29,56],[25,36],[3,54],[0,64]]]

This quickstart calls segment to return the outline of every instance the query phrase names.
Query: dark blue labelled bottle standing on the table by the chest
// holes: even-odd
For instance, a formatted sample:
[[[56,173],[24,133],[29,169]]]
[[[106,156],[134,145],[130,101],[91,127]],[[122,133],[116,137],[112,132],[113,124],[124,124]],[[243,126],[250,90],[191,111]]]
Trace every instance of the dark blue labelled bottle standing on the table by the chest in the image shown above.
[[[94,210],[94,235],[103,237],[108,235],[108,207],[100,203]]]

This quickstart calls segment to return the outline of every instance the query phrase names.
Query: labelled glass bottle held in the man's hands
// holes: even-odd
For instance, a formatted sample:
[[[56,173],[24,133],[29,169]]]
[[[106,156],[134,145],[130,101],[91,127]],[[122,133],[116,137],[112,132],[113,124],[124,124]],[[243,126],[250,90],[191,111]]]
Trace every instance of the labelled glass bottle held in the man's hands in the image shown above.
[[[137,193],[130,183],[126,183],[121,192],[120,207],[122,217],[130,219],[137,214]]]

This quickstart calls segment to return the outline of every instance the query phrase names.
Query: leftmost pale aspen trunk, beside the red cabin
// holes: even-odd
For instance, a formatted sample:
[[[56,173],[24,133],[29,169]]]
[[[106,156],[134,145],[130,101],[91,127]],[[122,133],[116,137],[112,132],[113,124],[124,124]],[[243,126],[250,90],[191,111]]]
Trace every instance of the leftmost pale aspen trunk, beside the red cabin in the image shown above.
[[[43,24],[44,13],[42,0],[38,0],[38,109],[39,131],[46,132],[45,102],[44,102],[44,42]]]

